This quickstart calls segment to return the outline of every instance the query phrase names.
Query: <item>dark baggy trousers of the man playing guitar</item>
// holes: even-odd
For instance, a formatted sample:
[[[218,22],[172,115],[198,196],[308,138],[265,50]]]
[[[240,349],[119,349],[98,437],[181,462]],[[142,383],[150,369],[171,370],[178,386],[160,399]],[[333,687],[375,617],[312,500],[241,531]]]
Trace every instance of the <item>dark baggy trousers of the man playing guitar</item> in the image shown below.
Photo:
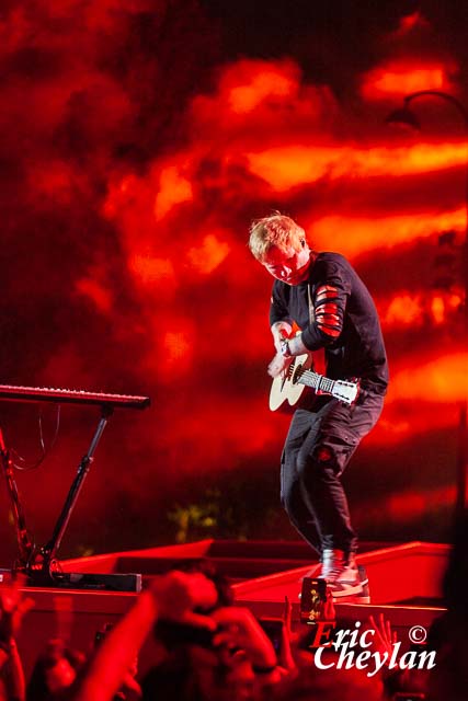
[[[363,391],[353,406],[322,397],[313,411],[299,409],[293,416],[282,456],[282,504],[320,554],[330,548],[356,550],[340,475],[383,406],[383,397]]]

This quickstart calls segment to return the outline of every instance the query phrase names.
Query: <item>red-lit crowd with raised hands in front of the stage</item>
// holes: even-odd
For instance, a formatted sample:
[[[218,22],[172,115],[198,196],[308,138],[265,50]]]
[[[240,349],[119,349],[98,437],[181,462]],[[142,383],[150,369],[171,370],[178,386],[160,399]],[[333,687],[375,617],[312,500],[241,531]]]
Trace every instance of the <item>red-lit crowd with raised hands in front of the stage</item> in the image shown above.
[[[435,651],[432,669],[336,669],[331,645],[316,664],[312,628],[294,628],[286,600],[282,620],[258,620],[235,605],[229,585],[208,564],[171,570],[152,578],[128,612],[98,631],[83,654],[69,641],[50,640],[26,680],[20,628],[27,631],[34,606],[20,584],[0,588],[0,700],[8,701],[378,701],[468,698],[468,518],[456,528],[444,581],[446,612],[435,619],[426,648]],[[328,602],[328,613],[333,611]],[[338,630],[345,627],[336,621]],[[366,623],[372,650],[390,652],[396,635],[390,621]],[[363,629],[364,630],[364,629]],[[34,631],[31,631],[34,634]],[[140,677],[138,654],[146,639],[158,655]],[[370,640],[370,637],[369,637]],[[72,643],[72,641],[71,641]],[[90,641],[91,643],[91,641]],[[324,665],[327,660],[327,665]]]

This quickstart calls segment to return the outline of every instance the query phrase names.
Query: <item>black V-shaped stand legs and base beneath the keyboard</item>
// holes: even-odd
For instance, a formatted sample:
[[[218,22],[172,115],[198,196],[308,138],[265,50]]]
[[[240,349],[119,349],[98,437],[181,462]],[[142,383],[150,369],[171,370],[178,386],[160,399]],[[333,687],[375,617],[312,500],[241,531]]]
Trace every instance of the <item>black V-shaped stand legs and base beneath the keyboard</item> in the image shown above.
[[[140,591],[140,574],[83,574],[61,572],[57,560],[57,551],[60,548],[64,533],[67,529],[71,513],[77,504],[83,482],[88,475],[94,452],[104,432],[113,407],[109,404],[101,406],[101,418],[94,432],[88,452],[81,459],[77,475],[71,483],[64,507],[57,519],[53,536],[47,545],[35,550],[27,529],[24,512],[18,493],[16,482],[13,475],[13,462],[10,451],[7,449],[0,428],[0,459],[5,474],[7,489],[12,504],[16,539],[20,558],[13,565],[12,574],[21,572],[27,577],[30,586],[38,587],[66,587],[71,589],[100,589],[113,591]]]

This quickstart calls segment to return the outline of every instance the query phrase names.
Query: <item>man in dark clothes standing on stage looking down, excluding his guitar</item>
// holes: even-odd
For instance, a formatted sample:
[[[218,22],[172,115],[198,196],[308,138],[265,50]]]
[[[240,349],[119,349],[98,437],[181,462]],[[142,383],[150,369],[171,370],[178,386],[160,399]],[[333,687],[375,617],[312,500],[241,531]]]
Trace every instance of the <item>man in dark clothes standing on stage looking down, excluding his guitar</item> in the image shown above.
[[[253,221],[249,246],[275,278],[270,323],[276,378],[296,356],[324,348],[331,380],[358,378],[354,403],[319,394],[294,413],[282,456],[281,497],[292,524],[318,551],[320,577],[335,599],[363,594],[341,474],[384,405],[388,366],[374,301],[338,253],[311,251],[306,233],[275,212]],[[300,333],[293,335],[293,325]]]

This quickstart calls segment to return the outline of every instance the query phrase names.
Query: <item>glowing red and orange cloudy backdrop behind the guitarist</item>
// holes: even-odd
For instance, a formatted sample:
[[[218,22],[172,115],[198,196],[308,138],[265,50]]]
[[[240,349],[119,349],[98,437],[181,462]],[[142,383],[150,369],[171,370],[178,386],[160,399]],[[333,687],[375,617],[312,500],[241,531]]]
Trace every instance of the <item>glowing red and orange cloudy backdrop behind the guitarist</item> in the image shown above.
[[[277,495],[288,418],[267,410],[272,280],[246,245],[272,209],[346,255],[380,313],[391,386],[345,475],[362,537],[443,540],[467,397],[468,125],[431,99],[420,133],[385,117],[415,90],[467,103],[463,3],[225,4],[1,11],[1,381],[152,400],[111,418],[60,554],[295,538]],[[0,403],[26,468],[38,410]],[[98,417],[64,406],[46,463],[16,473],[38,543]],[[8,564],[5,490],[0,507]]]

